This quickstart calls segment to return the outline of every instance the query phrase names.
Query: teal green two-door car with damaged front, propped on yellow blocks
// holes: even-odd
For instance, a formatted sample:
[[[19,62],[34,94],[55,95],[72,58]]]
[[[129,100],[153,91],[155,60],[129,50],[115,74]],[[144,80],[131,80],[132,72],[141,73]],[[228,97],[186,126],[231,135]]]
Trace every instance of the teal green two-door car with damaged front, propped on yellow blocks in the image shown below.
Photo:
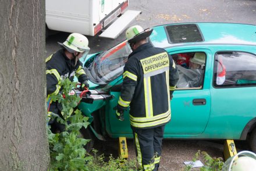
[[[148,41],[172,55],[180,74],[164,138],[248,139],[256,152],[256,26],[179,23],[152,29]],[[129,111],[123,122],[115,116],[130,53],[123,41],[84,60],[92,94],[79,108],[101,140],[133,137]]]

